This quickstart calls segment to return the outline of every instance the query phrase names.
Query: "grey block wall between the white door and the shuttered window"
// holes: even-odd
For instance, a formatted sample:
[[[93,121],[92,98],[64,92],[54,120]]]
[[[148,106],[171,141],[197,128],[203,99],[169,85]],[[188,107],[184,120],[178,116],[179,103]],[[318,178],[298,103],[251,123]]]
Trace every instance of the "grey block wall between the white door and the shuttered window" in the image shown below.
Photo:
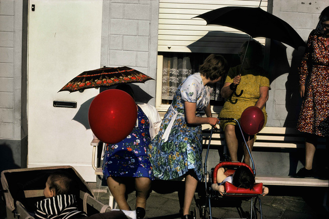
[[[158,10],[158,0],[104,0],[101,66],[128,66],[156,78]],[[155,97],[154,80],[136,85]]]

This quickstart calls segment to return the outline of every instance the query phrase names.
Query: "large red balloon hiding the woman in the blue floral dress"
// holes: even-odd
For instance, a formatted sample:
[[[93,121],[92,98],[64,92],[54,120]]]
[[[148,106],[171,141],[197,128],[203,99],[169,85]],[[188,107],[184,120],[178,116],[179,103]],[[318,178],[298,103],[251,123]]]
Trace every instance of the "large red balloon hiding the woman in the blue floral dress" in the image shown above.
[[[92,132],[102,142],[122,141],[135,127],[137,107],[133,98],[117,89],[98,94],[91,102],[88,121]]]

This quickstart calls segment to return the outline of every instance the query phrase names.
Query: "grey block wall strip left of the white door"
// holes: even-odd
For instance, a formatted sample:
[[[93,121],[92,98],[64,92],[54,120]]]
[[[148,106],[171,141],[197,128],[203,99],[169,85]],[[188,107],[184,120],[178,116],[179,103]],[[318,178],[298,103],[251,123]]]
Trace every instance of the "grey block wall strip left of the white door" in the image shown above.
[[[22,115],[27,92],[22,93],[23,4],[27,0],[0,1],[0,171],[27,163],[27,134],[22,134],[27,124]]]

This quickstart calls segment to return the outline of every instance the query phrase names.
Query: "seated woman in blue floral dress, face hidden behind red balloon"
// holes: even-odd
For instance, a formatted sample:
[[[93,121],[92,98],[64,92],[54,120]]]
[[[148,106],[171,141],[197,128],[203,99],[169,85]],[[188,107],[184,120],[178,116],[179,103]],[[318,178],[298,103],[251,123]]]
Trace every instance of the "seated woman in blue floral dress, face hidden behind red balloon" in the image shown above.
[[[119,85],[116,89],[123,90],[134,98],[129,85]],[[138,103],[136,107],[137,122],[131,133],[121,142],[106,146],[103,175],[119,209],[126,211],[130,210],[125,198],[126,184],[129,180],[134,180],[136,216],[137,219],[142,219],[145,216],[151,181],[154,180],[146,150],[159,130],[161,118],[154,106]]]

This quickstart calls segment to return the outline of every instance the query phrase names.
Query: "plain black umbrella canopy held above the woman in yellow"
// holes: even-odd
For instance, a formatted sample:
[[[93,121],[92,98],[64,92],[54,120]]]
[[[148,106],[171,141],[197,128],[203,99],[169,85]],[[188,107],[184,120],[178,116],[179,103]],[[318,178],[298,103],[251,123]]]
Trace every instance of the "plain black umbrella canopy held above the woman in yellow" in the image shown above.
[[[251,37],[275,39],[295,49],[298,49],[299,46],[306,46],[305,41],[292,26],[260,7],[227,6],[196,17],[206,20],[207,25],[229,26],[241,30]]]

